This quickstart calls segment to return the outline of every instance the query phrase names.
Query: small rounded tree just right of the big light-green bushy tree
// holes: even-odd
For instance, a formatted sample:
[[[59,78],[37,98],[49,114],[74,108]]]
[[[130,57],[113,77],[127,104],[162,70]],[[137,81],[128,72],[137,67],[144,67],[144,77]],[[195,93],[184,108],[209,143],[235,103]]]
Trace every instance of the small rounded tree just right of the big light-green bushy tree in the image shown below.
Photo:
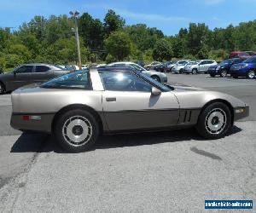
[[[154,60],[172,60],[172,45],[165,38],[160,39],[155,43],[153,49]]]

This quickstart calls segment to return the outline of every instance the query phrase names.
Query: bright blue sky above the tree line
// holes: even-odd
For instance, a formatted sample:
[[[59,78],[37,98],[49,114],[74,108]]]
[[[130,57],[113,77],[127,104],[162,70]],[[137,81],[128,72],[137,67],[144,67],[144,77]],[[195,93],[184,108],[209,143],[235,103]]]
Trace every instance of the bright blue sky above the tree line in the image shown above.
[[[19,27],[35,15],[48,18],[74,9],[100,20],[113,9],[126,25],[144,23],[167,36],[190,22],[214,29],[256,20],[256,0],[0,0],[0,27]]]

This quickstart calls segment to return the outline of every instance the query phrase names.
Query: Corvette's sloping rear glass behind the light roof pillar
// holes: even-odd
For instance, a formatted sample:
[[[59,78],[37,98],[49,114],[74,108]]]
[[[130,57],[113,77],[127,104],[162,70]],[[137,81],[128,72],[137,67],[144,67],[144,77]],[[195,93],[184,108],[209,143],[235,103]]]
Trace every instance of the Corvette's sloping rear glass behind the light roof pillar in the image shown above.
[[[62,75],[43,83],[40,87],[55,89],[91,89],[89,72],[79,71]]]

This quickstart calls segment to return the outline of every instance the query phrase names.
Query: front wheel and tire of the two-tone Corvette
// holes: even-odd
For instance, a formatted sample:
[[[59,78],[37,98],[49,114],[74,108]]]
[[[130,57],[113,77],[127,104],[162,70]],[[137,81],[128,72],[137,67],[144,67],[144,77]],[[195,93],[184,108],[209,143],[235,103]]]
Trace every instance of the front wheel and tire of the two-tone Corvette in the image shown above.
[[[231,116],[227,105],[222,102],[212,103],[201,112],[196,124],[196,130],[206,139],[222,138],[230,131],[232,126]]]

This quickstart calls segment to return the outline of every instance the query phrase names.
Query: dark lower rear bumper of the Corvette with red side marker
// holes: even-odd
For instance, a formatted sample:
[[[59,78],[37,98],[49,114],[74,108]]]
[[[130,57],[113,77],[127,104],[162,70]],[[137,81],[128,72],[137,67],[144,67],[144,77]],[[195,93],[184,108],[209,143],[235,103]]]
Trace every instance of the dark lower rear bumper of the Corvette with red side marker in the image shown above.
[[[12,113],[10,125],[15,130],[32,130],[50,133],[54,116],[54,113]]]

